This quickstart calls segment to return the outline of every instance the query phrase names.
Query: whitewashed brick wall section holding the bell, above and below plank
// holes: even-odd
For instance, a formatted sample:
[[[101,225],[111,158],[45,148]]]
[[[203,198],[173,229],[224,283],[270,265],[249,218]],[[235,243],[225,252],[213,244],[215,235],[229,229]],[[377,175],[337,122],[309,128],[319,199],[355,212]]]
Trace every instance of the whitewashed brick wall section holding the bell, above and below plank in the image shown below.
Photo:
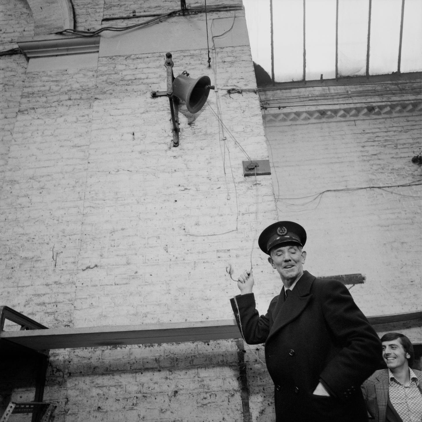
[[[74,2],[78,29],[99,26],[103,5],[91,3]],[[265,266],[254,240],[276,216],[271,176],[243,177],[242,160],[268,152],[247,39],[238,44],[216,40],[211,68],[206,50],[173,52],[175,74],[216,86],[194,116],[180,107],[178,148],[168,99],[151,97],[166,89],[165,51],[29,72],[22,56],[1,58],[19,64],[7,83],[21,81],[2,128],[2,304],[48,327],[232,318],[226,267],[250,268],[251,254]],[[51,351],[44,399],[63,422],[240,422],[258,414],[242,402],[243,354],[236,341]],[[32,400],[33,384],[10,397]]]

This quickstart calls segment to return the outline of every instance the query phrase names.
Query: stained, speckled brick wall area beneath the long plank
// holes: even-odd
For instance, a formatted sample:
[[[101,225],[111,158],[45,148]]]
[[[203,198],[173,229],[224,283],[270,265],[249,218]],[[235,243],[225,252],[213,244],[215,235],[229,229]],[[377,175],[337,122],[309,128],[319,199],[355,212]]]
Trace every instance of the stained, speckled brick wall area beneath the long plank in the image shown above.
[[[65,420],[240,422],[239,389],[235,341],[214,341],[55,354],[46,394]]]

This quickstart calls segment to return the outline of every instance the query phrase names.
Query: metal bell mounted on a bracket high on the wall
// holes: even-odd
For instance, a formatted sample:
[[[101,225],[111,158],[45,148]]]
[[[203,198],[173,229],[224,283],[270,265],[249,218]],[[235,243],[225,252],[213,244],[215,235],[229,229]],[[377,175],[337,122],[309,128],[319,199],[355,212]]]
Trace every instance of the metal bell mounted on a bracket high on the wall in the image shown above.
[[[214,87],[211,87],[211,79],[208,76],[192,79],[179,75],[173,81],[173,95],[183,100],[192,114],[200,111],[208,98],[210,89]]]

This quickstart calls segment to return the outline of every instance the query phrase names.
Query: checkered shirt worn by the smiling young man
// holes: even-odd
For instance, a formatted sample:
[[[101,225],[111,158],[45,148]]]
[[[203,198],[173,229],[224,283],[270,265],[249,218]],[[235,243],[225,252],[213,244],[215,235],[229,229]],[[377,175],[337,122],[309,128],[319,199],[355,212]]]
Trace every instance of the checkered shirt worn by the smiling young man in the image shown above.
[[[419,390],[419,379],[409,368],[410,381],[406,384],[400,384],[394,375],[388,370],[388,379],[390,384],[388,394],[391,404],[399,414],[403,422],[421,422],[422,421],[422,393]]]

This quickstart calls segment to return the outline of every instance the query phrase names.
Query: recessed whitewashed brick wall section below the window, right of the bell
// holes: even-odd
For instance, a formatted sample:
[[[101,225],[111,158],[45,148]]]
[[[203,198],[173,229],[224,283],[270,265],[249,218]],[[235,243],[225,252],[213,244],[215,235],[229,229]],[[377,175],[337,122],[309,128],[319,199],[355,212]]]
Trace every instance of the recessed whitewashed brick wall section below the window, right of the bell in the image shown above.
[[[324,108],[313,100],[325,95],[325,88],[309,87],[295,93],[314,105],[298,106],[299,119],[287,121],[271,109],[264,116],[279,218],[309,227],[306,268],[311,273],[366,277],[365,284],[352,290],[366,315],[417,311],[422,298],[422,173],[421,166],[411,162],[421,150],[421,106],[411,106],[418,82],[402,85],[407,92],[398,94],[400,106],[392,106],[391,97],[381,92],[383,87],[391,95],[396,84],[365,93],[366,104],[385,101],[379,105],[382,113],[363,113],[360,104],[348,106],[343,97],[334,100],[339,105],[332,106],[333,114],[321,117]],[[331,92],[336,89],[339,97],[341,88]],[[346,94],[346,88],[343,91]],[[277,95],[266,99],[271,96]],[[353,117],[348,107],[360,115]],[[305,112],[317,119],[305,118]],[[422,341],[420,330],[414,340]]]

